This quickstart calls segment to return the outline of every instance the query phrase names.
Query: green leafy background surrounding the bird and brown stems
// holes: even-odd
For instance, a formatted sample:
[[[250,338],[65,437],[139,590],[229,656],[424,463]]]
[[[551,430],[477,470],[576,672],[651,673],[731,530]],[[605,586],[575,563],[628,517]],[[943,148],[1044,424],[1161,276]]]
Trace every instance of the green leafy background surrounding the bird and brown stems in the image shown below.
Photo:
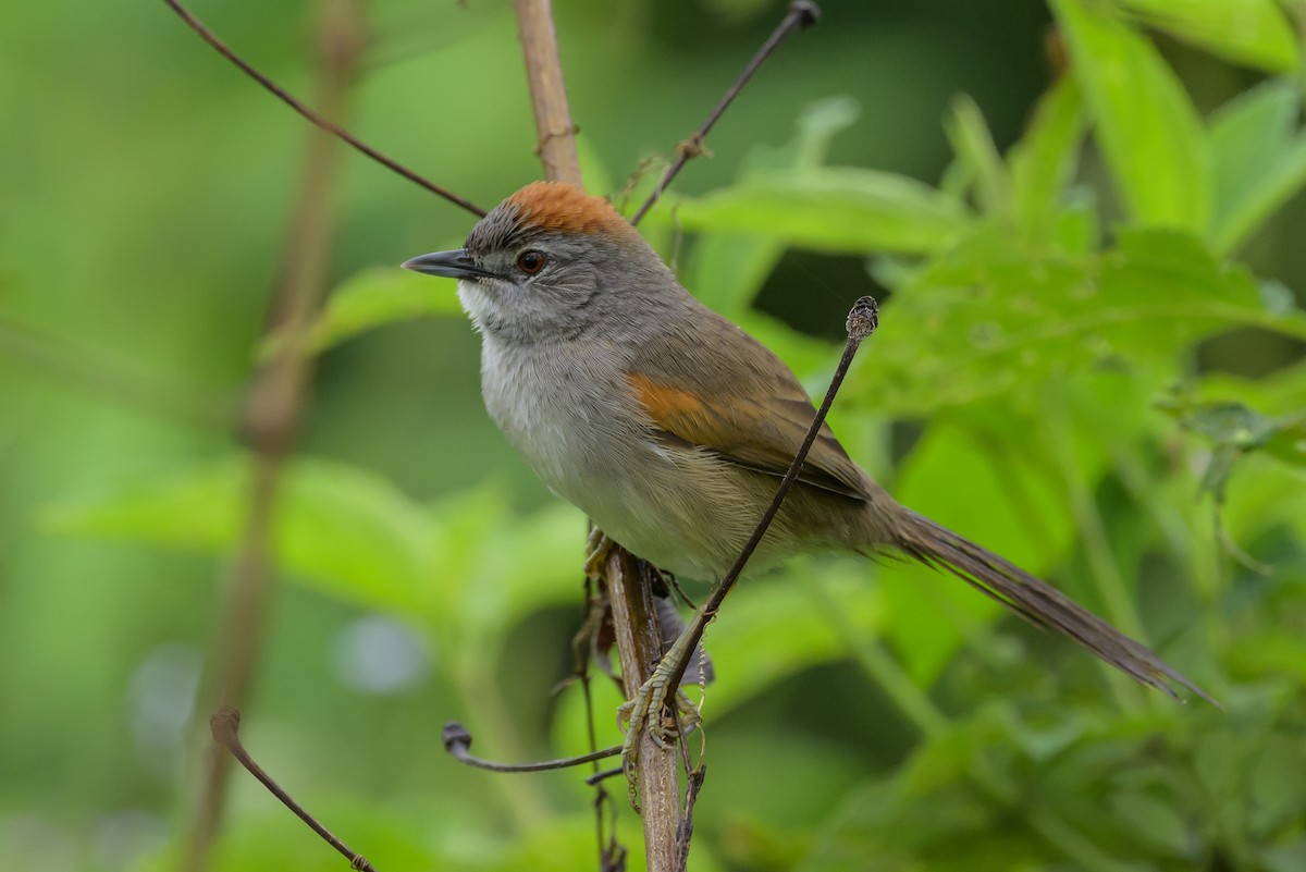
[[[814,392],[850,302],[887,298],[833,415],[854,457],[1226,709],[919,567],[795,560],[708,634],[693,868],[1306,868],[1306,10],[1049,5],[1045,74],[1047,10],[825,4],[643,230]],[[558,7],[596,189],[680,138],[781,13]],[[199,12],[306,90],[311,5]],[[371,14],[351,129],[485,205],[538,172],[508,4]],[[0,44],[0,847],[166,868],[306,133],[162,4],[9,4]],[[582,518],[485,420],[452,287],[392,266],[470,219],[362,161],[337,202],[247,743],[383,869],[589,868],[579,775],[439,743],[457,718],[498,758],[586,745],[577,689],[551,693]],[[620,700],[594,692],[609,744]],[[244,778],[223,833],[221,868],[340,865]]]

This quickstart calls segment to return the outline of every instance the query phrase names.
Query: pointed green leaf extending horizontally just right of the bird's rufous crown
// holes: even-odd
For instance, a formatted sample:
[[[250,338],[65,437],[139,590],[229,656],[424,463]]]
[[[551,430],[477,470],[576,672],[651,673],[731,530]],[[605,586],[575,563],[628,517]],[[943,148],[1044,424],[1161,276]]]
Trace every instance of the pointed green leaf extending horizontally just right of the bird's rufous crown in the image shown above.
[[[756,174],[677,214],[688,230],[747,234],[812,251],[929,253],[968,227],[965,209],[905,176],[831,167]]]

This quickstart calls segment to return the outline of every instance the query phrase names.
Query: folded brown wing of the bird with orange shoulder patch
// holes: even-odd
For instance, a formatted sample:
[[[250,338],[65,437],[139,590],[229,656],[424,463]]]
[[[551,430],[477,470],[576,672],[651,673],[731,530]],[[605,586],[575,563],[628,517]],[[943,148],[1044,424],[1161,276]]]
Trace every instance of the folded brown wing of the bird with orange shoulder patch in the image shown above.
[[[816,409],[789,367],[756,339],[717,316],[699,326],[707,329],[695,330],[693,347],[679,334],[679,342],[662,338],[641,349],[627,372],[635,397],[663,439],[782,478]],[[865,473],[825,426],[798,480],[870,499]]]

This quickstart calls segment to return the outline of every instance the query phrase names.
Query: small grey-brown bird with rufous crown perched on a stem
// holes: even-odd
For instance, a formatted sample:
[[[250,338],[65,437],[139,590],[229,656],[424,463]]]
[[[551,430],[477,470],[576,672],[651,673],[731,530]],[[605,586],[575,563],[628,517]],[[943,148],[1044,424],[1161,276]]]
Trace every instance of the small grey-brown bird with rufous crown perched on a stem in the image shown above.
[[[776,354],[691,295],[609,200],[567,183],[528,184],[462,248],[402,266],[457,279],[486,410],[554,493],[675,576],[726,573],[816,411]],[[1144,685],[1215,704],[1051,585],[897,503],[828,426],[752,565],[814,551],[943,569]]]

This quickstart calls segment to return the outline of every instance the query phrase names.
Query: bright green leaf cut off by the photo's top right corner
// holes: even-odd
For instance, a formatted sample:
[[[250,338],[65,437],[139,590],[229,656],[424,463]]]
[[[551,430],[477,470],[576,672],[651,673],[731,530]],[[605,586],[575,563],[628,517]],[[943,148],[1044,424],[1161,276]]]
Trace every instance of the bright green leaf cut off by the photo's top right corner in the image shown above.
[[[1275,0],[1117,0],[1143,23],[1232,60],[1286,73],[1301,60],[1293,25]]]

